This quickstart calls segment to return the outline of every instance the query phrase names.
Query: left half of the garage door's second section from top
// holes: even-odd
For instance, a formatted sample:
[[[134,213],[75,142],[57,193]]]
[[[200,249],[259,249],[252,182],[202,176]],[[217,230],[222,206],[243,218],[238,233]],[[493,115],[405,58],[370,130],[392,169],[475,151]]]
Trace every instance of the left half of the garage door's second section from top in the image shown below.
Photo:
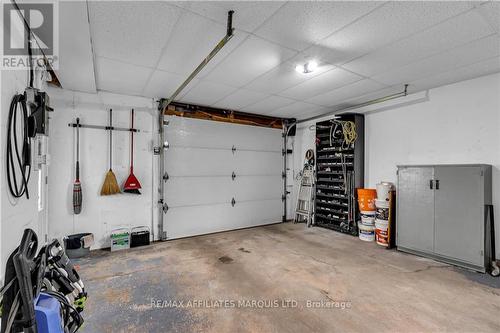
[[[172,148],[165,153],[165,171],[172,176],[231,176],[228,150]]]

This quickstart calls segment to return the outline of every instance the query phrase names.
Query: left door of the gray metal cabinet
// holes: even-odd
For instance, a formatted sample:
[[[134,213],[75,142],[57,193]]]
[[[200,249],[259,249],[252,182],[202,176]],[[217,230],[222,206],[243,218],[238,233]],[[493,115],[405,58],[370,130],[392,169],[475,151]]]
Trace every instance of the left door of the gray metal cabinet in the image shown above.
[[[434,239],[433,167],[398,170],[398,248],[432,253]]]

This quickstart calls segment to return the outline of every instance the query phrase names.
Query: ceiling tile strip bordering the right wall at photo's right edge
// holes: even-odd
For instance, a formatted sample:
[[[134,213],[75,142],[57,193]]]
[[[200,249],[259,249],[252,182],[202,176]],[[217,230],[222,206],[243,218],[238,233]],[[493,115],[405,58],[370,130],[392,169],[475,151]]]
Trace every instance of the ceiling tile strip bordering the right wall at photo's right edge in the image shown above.
[[[414,90],[420,91],[498,72],[500,72],[500,57],[495,57],[466,67],[410,82],[410,86],[413,87]]]

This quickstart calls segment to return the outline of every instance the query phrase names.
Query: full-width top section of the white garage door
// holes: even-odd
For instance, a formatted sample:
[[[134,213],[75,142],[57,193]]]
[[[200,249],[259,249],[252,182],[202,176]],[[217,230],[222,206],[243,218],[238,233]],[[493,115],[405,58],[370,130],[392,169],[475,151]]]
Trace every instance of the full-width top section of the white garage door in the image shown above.
[[[168,119],[170,125],[166,127],[165,137],[172,147],[281,149],[281,130],[180,117]]]

